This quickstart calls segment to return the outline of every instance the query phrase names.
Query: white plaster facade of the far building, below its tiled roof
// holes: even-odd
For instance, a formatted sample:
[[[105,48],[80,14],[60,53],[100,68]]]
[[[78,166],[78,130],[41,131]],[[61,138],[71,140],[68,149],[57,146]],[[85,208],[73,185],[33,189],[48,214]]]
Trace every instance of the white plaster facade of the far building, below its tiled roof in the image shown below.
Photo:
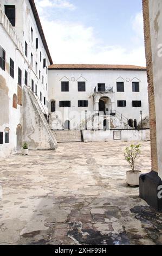
[[[129,78],[126,79],[126,78]],[[61,92],[61,81],[69,81],[69,92]],[[86,92],[77,91],[77,81],[86,82]],[[129,81],[129,82],[127,82]],[[116,82],[124,82],[125,92],[116,92]],[[140,92],[132,92],[132,82],[139,82]],[[69,120],[71,127],[76,127],[85,119],[85,110],[87,116],[95,110],[94,106],[94,88],[98,83],[105,83],[107,87],[113,87],[114,93],[109,97],[114,100],[114,108],[122,113],[128,119],[137,119],[140,121],[140,111],[143,112],[143,118],[148,115],[148,95],[147,95],[147,75],[146,71],[125,71],[125,70],[48,70],[48,93],[49,101],[56,101],[56,115],[59,119],[62,115],[63,120]],[[70,100],[70,108],[60,108],[59,101]],[[88,100],[88,107],[78,107],[78,100]],[[118,100],[126,100],[126,107],[118,107]],[[141,100],[142,107],[132,107],[132,100]],[[50,104],[49,104],[50,112]],[[54,115],[54,114],[52,114]],[[73,115],[75,116],[73,118]],[[56,126],[54,121],[53,128],[59,129],[60,122]]]

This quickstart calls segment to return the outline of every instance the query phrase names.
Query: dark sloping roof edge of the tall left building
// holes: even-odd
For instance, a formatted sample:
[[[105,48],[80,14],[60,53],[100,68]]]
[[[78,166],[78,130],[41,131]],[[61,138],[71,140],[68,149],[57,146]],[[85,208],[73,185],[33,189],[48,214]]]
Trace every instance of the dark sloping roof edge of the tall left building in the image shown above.
[[[34,14],[36,25],[37,25],[38,31],[39,31],[39,33],[41,35],[41,39],[42,39],[44,48],[46,49],[47,56],[49,58],[49,62],[50,62],[50,64],[53,64],[53,60],[52,60],[52,58],[50,56],[50,52],[49,52],[49,48],[48,48],[48,45],[47,45],[47,41],[46,41],[46,38],[44,36],[44,32],[43,32],[43,28],[42,28],[42,25],[41,25],[40,17],[38,16],[38,13],[37,13],[35,2],[34,2],[34,0],[29,0],[29,3],[31,5],[31,9],[32,9],[33,14]]]

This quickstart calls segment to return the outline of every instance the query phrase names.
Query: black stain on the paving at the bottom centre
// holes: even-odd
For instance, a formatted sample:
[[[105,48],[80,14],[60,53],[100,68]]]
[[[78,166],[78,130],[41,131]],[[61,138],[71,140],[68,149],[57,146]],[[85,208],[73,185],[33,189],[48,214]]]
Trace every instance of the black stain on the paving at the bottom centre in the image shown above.
[[[85,235],[87,233],[87,235]],[[129,239],[125,231],[121,234],[102,235],[100,231],[93,229],[69,230],[67,236],[72,236],[81,245],[129,245]]]

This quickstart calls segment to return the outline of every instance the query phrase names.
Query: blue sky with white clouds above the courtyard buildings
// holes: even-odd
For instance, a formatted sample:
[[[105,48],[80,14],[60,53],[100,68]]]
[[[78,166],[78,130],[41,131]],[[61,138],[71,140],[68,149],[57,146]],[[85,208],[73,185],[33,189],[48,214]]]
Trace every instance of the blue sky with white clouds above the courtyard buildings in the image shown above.
[[[145,66],[141,0],[35,0],[55,64]]]

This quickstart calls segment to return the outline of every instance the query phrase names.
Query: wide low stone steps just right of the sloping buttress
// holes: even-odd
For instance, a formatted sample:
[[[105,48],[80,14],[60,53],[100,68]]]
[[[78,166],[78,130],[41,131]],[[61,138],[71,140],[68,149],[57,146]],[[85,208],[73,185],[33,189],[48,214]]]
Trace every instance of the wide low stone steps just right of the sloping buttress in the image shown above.
[[[53,131],[56,141],[61,142],[83,142],[82,131]]]

